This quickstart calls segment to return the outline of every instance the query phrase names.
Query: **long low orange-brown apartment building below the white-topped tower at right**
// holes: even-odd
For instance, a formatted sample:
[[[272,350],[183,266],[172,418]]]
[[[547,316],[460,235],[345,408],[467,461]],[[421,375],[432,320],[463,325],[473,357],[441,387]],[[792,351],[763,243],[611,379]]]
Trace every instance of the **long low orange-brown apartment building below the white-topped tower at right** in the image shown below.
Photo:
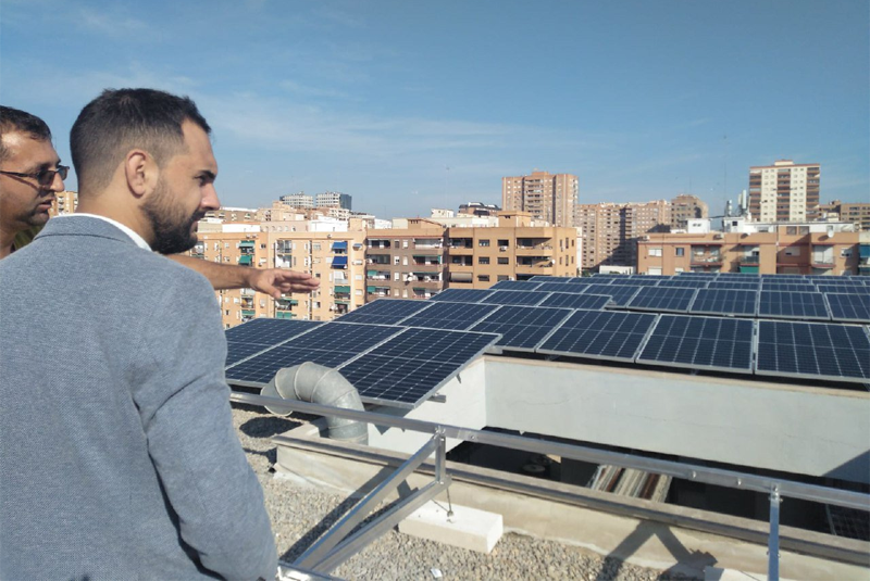
[[[650,233],[637,242],[637,273],[857,275],[859,232],[844,223],[763,224],[734,218],[731,231]]]

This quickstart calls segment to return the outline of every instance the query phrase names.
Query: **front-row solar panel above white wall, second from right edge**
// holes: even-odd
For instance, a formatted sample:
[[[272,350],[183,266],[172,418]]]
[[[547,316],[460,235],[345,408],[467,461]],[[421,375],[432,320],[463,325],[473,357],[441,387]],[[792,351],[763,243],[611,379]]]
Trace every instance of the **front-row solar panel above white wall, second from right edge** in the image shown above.
[[[637,363],[751,374],[754,327],[749,319],[662,315]]]

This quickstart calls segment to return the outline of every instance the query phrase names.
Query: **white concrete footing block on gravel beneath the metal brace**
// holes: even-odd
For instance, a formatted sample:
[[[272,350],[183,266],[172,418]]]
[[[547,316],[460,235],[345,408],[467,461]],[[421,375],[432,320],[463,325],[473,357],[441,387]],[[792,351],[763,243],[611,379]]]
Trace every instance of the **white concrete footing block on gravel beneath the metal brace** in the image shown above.
[[[504,533],[501,515],[468,506],[452,509],[448,516],[447,505],[428,502],[399,522],[399,532],[477,553],[493,551]]]

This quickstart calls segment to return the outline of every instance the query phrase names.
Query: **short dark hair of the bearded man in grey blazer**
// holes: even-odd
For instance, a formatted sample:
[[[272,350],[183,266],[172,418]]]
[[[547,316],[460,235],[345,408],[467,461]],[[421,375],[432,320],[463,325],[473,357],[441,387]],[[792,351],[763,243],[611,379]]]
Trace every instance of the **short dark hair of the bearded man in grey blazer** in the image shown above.
[[[182,124],[211,127],[188,97],[154,89],[105,89],[85,105],[70,131],[78,189],[99,191],[112,180],[117,164],[141,148],[162,165],[184,147]]]

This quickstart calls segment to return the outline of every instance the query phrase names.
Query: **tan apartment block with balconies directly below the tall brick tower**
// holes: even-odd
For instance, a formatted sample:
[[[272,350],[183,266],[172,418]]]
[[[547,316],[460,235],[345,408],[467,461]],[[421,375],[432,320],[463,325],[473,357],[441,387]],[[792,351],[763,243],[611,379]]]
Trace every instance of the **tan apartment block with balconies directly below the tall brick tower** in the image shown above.
[[[527,212],[502,212],[497,227],[448,228],[446,286],[487,289],[536,275],[577,276],[577,229],[531,223]]]

